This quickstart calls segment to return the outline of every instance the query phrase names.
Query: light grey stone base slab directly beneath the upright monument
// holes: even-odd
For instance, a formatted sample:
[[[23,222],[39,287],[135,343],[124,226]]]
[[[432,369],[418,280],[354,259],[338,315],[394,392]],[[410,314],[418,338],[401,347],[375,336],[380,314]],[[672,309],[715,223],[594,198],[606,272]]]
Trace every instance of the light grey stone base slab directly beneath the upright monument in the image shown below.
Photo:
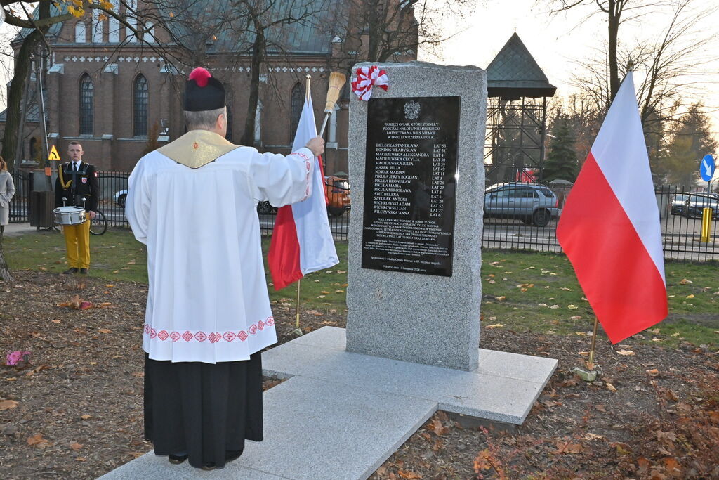
[[[323,327],[262,354],[268,375],[302,376],[428,399],[440,409],[521,425],[557,361],[480,349],[475,371],[349,353],[342,330]]]

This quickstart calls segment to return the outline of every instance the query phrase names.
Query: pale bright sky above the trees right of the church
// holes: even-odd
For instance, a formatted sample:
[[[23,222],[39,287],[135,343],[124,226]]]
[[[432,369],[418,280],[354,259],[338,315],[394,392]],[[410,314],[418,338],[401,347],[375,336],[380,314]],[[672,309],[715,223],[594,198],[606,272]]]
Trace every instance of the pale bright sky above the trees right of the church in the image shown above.
[[[430,0],[434,6],[445,0]],[[667,3],[672,0],[667,0]],[[571,85],[572,73],[577,71],[577,60],[595,56],[595,49],[607,42],[607,23],[602,14],[586,19],[587,14],[597,11],[593,1],[589,6],[580,6],[569,12],[549,15],[549,1],[535,0],[477,0],[476,7],[465,12],[464,18],[446,14],[441,27],[445,37],[451,37],[442,46],[441,58],[420,50],[419,60],[445,65],[487,65],[505,45],[513,32],[522,42],[544,71],[549,83],[557,86],[556,96],[576,93]],[[639,3],[648,3],[646,1]],[[695,0],[697,6],[712,2]],[[636,39],[656,40],[663,33],[669,21],[668,12],[649,12],[639,22],[623,24],[620,27],[620,41],[633,42]],[[719,25],[719,11],[713,12],[700,22],[698,29],[711,35]],[[713,121],[713,134],[719,140],[719,37],[712,42],[713,61],[703,65],[697,75],[690,78],[695,82],[695,101],[701,96]],[[635,75],[638,82],[638,74]],[[636,85],[638,87],[638,84]],[[715,155],[716,156],[716,155]]]

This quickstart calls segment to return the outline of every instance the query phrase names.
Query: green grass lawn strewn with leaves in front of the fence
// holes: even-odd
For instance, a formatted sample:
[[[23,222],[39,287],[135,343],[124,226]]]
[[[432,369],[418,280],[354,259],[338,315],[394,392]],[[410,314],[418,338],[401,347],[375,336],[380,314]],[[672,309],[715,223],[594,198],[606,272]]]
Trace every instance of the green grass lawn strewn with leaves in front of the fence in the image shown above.
[[[147,283],[147,252],[127,230],[91,236],[91,276],[106,281]],[[65,244],[60,232],[37,232],[4,240],[12,269],[60,273],[65,270]],[[269,240],[262,242],[267,252]],[[339,265],[311,273],[301,281],[303,309],[347,309],[347,243],[336,244]],[[266,260],[266,259],[265,259]],[[719,342],[719,264],[667,262],[669,318],[644,340],[675,347]],[[296,286],[275,291],[267,274],[270,300],[294,305]],[[621,281],[621,279],[618,279]],[[485,250],[482,252],[482,316],[485,327],[548,335],[586,335],[594,314],[584,299],[572,265],[554,253]],[[499,326],[501,325],[501,327]]]

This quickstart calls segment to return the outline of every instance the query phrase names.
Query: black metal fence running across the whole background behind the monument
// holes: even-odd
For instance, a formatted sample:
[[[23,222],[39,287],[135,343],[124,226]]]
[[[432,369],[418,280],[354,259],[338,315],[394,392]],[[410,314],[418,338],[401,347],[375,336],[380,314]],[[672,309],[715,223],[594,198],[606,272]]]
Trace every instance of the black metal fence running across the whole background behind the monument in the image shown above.
[[[99,209],[111,227],[127,227],[124,203],[127,196],[127,172],[103,172],[99,176]],[[11,202],[10,221],[28,221],[28,198],[32,191],[32,176],[19,173],[13,176],[17,193]],[[349,184],[344,178],[326,177],[325,192],[329,201],[329,226],[336,241],[346,242],[349,235]],[[557,242],[557,222],[561,215],[569,186],[552,186],[557,195],[559,215],[551,217],[544,227],[534,225],[531,215],[507,214],[504,217],[485,216],[482,232],[484,248],[538,250],[562,252]],[[719,204],[717,194],[707,189],[683,186],[659,186],[656,191],[659,221],[664,242],[664,258],[691,261],[719,261]],[[701,239],[702,207],[713,208],[710,241]],[[458,207],[461,208],[461,207]],[[587,209],[601,209],[601,205],[587,205]],[[277,209],[267,202],[257,205],[260,232],[272,235]]]

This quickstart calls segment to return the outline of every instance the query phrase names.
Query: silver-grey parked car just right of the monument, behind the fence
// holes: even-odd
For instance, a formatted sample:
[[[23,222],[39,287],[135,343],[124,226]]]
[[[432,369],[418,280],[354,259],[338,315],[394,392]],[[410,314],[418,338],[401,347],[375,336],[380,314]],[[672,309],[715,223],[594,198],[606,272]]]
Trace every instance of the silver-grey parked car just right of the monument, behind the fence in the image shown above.
[[[485,218],[518,219],[546,227],[559,217],[559,198],[544,185],[512,182],[485,189]]]

